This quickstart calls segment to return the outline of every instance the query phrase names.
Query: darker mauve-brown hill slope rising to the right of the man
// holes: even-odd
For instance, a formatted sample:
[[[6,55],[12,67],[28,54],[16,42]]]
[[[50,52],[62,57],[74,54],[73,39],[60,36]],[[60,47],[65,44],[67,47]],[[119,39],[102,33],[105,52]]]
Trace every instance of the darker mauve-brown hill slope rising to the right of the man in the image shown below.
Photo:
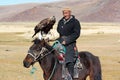
[[[87,22],[120,22],[120,0],[106,0],[95,12],[82,17]]]

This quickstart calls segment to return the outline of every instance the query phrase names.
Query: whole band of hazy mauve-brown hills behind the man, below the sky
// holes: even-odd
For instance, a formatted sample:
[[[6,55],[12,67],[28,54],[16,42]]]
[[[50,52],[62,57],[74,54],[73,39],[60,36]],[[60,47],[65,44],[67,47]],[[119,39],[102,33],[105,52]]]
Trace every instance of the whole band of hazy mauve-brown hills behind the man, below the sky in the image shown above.
[[[61,10],[70,7],[84,22],[119,22],[120,0],[64,0],[55,3],[28,3],[0,6],[0,22],[40,21],[43,18],[62,17]]]

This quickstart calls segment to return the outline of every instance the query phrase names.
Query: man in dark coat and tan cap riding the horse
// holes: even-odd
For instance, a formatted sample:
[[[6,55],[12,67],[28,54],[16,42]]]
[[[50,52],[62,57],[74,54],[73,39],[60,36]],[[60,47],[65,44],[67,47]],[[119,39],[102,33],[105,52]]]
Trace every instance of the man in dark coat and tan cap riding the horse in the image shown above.
[[[57,31],[60,34],[58,40],[66,47],[65,63],[73,78],[74,63],[76,56],[76,40],[80,36],[81,26],[75,16],[71,15],[71,10],[63,10],[63,18],[58,22]]]

